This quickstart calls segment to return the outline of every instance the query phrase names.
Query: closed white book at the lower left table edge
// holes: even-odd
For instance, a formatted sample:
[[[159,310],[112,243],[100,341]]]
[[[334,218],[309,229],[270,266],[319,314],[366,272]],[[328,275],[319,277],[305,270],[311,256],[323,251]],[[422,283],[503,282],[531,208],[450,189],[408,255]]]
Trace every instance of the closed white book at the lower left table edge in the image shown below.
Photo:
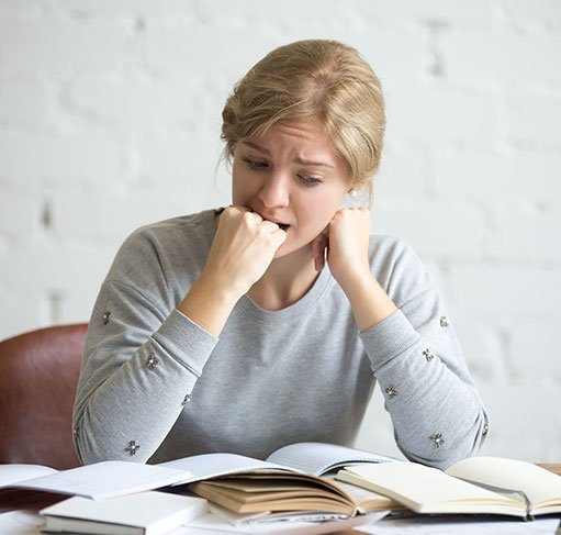
[[[202,498],[147,491],[108,500],[74,497],[40,513],[48,533],[160,535],[207,511]]]

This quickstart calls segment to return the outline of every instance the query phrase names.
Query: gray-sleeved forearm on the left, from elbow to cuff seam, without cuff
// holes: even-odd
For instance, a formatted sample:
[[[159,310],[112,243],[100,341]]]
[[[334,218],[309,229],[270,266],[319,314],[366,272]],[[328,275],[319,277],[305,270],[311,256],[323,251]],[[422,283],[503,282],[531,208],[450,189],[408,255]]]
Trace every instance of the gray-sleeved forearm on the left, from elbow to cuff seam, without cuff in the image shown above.
[[[75,441],[85,464],[146,462],[176,423],[198,375],[157,347],[148,339],[75,414]]]

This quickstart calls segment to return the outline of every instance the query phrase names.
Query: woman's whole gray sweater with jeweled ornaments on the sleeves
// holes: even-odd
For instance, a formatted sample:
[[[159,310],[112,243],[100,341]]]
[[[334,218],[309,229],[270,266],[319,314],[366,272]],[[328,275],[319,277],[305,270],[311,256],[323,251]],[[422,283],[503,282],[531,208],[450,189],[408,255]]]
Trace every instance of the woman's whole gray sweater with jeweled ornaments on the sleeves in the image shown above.
[[[359,333],[325,266],[290,306],[246,294],[220,338],[176,306],[214,236],[206,210],[135,231],[91,315],[74,411],[86,464],[211,452],[265,458],[295,442],[352,446],[375,381],[399,448],[446,468],[478,453],[487,419],[435,285],[405,242],[372,235],[372,275],[399,308]]]

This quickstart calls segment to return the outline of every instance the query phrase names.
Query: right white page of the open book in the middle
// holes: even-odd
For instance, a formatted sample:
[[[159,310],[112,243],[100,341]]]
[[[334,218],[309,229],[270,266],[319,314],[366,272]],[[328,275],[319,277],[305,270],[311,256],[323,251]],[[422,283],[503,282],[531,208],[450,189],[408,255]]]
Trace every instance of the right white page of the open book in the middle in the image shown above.
[[[314,476],[322,476],[335,468],[356,462],[385,462],[395,459],[337,444],[303,442],[277,449],[267,460],[298,468]]]

